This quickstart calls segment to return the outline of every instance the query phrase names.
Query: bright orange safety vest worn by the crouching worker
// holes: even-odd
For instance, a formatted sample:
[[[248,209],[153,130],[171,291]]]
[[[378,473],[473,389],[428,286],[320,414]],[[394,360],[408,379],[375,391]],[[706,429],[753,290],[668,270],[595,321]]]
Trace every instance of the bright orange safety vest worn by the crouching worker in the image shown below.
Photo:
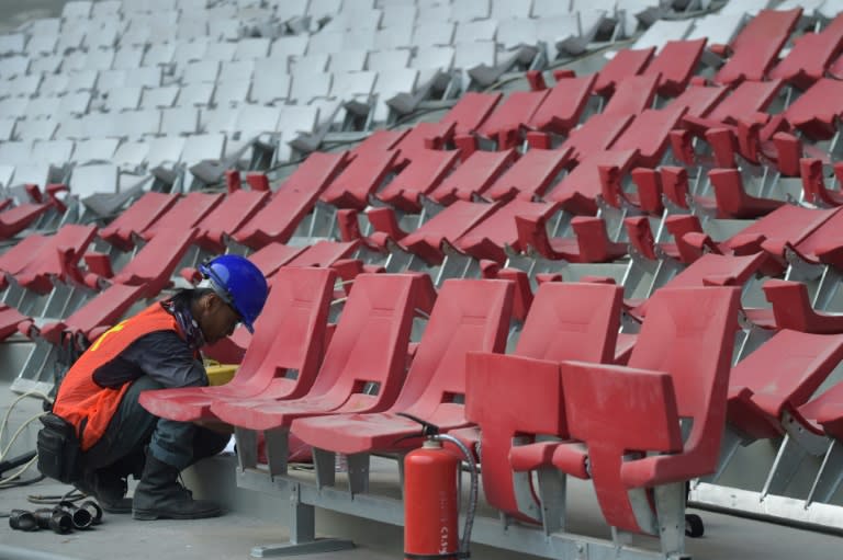
[[[53,412],[76,427],[83,452],[105,433],[131,385],[100,387],[93,380],[94,372],[116,358],[140,336],[156,331],[176,331],[184,338],[176,318],[160,302],[156,302],[102,333],[67,372],[58,388]]]

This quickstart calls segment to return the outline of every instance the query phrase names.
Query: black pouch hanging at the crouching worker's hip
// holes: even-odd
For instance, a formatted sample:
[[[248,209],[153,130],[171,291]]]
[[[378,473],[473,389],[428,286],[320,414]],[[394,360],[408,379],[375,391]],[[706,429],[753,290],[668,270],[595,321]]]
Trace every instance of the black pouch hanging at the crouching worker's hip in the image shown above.
[[[46,477],[66,484],[81,476],[81,446],[74,426],[48,412],[41,416],[44,427],[38,432],[38,470]]]

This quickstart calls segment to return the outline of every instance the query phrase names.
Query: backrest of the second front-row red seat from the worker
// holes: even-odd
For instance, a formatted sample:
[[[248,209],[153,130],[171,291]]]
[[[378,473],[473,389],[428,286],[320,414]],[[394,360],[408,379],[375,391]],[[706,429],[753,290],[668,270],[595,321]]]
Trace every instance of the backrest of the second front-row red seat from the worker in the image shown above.
[[[409,274],[355,278],[308,397],[325,397],[335,407],[352,399],[368,411],[395,401],[404,378],[417,282]]]

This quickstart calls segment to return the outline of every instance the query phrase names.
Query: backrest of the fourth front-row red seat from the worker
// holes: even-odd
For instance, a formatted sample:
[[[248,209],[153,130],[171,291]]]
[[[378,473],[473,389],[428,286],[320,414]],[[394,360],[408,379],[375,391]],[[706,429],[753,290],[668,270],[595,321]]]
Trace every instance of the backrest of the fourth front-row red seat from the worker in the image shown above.
[[[611,363],[622,296],[623,288],[610,284],[540,285],[515,354],[552,362]]]

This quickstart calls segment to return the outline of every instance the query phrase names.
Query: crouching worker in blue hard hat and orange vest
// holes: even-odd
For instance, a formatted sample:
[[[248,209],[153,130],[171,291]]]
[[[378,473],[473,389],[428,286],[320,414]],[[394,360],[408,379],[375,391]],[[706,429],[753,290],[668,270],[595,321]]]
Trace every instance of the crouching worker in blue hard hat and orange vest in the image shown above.
[[[38,434],[42,471],[95,498],[106,512],[132,512],[136,519],[221,514],[216,504],[193,500],[179,473],[220,453],[229,434],[154,416],[138,403],[142,391],[207,385],[202,345],[231,335],[238,323],[252,331],[263,308],[267,281],[245,258],[217,256],[200,272],[195,289],[178,292],[106,331],[68,370],[47,416],[67,426],[76,456],[60,458],[68,447],[72,456],[72,446],[54,445],[59,436],[48,421]],[[50,465],[63,460],[60,468]],[[128,475],[140,479],[133,499],[126,498]]]

